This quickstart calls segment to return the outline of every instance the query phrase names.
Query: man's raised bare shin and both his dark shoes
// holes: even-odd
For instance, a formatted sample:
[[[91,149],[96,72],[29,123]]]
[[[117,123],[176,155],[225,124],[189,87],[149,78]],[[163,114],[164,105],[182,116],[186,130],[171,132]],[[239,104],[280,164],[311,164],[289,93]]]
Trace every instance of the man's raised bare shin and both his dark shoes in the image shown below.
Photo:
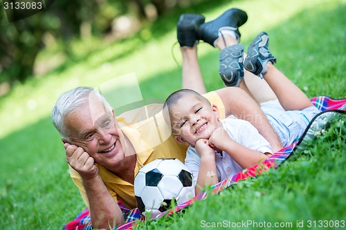
[[[205,17],[197,14],[183,14],[177,24],[177,38],[183,57],[183,88],[190,88],[199,93],[206,93],[197,59],[199,39],[211,46],[221,40],[220,35],[233,35],[235,43],[240,39],[239,26],[248,19],[246,12],[236,8],[226,10],[220,17],[208,23],[203,23]],[[222,36],[221,36],[222,37]]]

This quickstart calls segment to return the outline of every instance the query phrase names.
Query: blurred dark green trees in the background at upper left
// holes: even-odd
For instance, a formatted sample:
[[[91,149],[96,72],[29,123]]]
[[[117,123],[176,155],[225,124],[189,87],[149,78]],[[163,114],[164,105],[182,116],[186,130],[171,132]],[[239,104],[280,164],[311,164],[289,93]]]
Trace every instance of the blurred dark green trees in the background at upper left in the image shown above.
[[[202,0],[49,1],[50,7],[43,12],[11,23],[5,10],[0,10],[0,84],[25,82],[33,76],[35,58],[44,47],[47,34],[55,41],[62,40],[66,55],[73,56],[69,48],[72,38],[101,37],[112,32],[114,19],[121,15],[130,15],[144,23],[154,21],[168,8],[181,5],[181,2],[186,4]]]

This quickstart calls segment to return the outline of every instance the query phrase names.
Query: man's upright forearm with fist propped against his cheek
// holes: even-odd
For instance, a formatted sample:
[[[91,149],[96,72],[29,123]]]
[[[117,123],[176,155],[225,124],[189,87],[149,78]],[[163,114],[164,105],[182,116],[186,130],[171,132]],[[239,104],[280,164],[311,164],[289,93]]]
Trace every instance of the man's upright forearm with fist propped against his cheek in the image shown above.
[[[93,157],[78,146],[66,143],[64,147],[66,148],[66,161],[82,178],[89,201],[93,227],[112,229],[124,222],[119,205],[113,200],[100,175],[98,175],[98,167],[93,164]]]

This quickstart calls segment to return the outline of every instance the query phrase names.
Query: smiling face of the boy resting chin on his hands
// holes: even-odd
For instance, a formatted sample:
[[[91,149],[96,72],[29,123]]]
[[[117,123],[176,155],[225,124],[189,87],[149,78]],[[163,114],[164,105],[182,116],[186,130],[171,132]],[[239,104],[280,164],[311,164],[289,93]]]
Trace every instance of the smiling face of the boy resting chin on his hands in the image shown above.
[[[208,139],[218,126],[217,106],[187,95],[179,99],[170,113],[172,132],[181,144],[194,146],[199,139]]]

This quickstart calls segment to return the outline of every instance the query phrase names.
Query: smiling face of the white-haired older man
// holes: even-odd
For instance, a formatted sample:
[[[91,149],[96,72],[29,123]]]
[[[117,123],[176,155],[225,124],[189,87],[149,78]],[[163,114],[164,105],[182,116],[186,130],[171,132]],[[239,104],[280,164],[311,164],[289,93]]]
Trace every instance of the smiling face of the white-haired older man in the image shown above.
[[[121,131],[117,128],[113,111],[106,108],[93,93],[78,111],[65,117],[65,124],[70,131],[70,144],[82,147],[95,163],[106,167],[116,166],[124,159]]]

